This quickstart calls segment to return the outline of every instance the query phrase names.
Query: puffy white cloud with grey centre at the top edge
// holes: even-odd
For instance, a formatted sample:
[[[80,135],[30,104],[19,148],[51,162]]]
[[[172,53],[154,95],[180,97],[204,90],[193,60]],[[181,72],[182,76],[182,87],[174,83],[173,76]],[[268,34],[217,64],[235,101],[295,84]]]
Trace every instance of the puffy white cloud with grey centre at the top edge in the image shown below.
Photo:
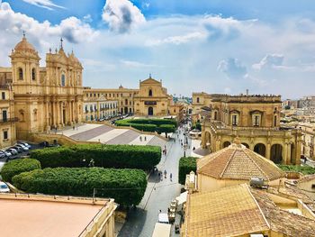
[[[102,17],[114,32],[130,32],[146,22],[139,8],[128,0],[107,0]]]

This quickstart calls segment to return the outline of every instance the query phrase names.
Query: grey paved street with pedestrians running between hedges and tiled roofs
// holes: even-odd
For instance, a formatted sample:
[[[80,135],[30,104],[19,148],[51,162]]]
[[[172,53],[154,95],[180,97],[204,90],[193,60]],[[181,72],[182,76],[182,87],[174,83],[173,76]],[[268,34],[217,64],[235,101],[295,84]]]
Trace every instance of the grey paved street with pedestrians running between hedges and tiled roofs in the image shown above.
[[[173,138],[175,137],[176,133],[173,134]],[[184,141],[183,132],[181,132],[179,139]],[[168,153],[162,157],[157,165],[157,169],[161,171],[166,169],[167,178],[163,178],[160,181],[157,174],[152,174],[148,178],[145,196],[136,209],[130,210],[128,220],[122,226],[119,237],[152,236],[159,210],[162,213],[167,213],[167,208],[171,201],[180,195],[181,185],[178,184],[178,161],[183,156],[184,150],[178,141],[168,141],[166,150],[168,150]],[[189,153],[190,151],[187,150],[187,156]],[[173,181],[169,178],[170,173],[173,174]],[[172,228],[174,232],[174,225]],[[173,236],[175,235],[173,234]]]

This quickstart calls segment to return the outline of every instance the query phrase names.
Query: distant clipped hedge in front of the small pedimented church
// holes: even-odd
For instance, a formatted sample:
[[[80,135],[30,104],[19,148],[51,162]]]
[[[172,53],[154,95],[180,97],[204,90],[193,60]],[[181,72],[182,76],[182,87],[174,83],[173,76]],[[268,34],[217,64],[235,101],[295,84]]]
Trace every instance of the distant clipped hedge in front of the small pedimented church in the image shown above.
[[[131,126],[135,129],[144,132],[160,132],[161,127],[168,128],[172,126],[172,131],[175,131],[177,122],[174,119],[125,119],[115,122],[116,126]]]

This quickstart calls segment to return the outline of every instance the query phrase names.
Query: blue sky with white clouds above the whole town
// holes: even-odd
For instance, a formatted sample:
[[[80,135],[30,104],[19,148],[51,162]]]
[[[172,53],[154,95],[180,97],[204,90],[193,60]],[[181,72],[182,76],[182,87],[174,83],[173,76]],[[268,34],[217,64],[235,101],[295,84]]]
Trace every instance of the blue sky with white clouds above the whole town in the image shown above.
[[[313,0],[0,0],[0,67],[23,31],[45,65],[74,50],[84,86],[168,93],[315,94]]]

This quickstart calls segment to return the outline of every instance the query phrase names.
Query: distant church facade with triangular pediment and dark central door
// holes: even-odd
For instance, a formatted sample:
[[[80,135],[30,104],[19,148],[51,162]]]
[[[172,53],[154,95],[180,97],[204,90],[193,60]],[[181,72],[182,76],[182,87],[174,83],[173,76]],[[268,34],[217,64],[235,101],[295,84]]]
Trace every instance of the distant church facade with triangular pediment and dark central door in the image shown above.
[[[169,105],[172,105],[172,96],[167,95],[166,87],[162,81],[151,76],[139,81],[139,93],[134,97],[135,114],[138,116],[167,116]]]

